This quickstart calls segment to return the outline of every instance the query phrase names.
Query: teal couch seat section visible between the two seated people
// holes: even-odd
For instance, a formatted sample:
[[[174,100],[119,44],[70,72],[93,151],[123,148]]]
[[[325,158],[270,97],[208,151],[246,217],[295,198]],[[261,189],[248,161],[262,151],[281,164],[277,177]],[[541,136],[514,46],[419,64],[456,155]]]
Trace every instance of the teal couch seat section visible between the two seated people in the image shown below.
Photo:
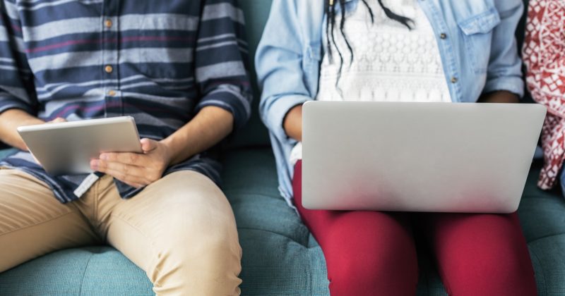
[[[328,295],[320,247],[277,188],[269,149],[227,155],[223,190],[243,249],[243,295]]]

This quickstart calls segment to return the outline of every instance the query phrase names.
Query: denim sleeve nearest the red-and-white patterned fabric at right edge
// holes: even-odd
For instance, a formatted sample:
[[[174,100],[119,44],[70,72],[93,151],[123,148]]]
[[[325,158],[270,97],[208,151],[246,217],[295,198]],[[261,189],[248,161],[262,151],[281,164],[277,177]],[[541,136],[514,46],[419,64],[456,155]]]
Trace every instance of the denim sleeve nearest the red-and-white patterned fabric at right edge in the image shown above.
[[[522,61],[513,34],[523,13],[523,3],[521,0],[494,2],[501,22],[493,30],[487,83],[483,93],[506,90],[523,97]]]

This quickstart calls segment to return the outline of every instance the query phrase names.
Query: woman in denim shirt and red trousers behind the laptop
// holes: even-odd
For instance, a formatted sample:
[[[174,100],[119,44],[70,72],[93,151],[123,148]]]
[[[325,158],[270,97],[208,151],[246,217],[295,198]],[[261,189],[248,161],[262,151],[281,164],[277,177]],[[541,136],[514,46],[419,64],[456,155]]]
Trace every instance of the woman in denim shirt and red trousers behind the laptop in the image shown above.
[[[302,206],[305,101],[517,103],[523,80],[514,32],[522,11],[521,0],[273,1],[256,54],[261,117],[281,193],[323,250],[331,295],[415,295],[414,230],[426,238],[449,295],[536,295],[516,213]]]

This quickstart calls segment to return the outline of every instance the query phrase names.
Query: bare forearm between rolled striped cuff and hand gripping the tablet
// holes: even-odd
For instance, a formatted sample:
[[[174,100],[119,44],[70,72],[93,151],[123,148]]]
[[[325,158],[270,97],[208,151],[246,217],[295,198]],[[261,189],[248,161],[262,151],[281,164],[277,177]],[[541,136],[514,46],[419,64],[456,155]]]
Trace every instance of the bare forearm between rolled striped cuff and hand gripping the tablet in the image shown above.
[[[218,144],[230,135],[233,126],[234,116],[229,111],[204,107],[189,123],[162,140],[169,152],[169,165],[179,164]]]

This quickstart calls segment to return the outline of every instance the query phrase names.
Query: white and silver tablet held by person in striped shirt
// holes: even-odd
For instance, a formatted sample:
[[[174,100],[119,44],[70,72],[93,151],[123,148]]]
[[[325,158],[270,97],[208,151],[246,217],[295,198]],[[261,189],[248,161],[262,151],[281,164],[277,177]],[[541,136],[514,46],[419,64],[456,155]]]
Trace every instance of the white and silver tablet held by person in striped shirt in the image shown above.
[[[102,152],[143,152],[131,116],[26,125],[18,132],[51,175],[93,173],[90,160]]]

